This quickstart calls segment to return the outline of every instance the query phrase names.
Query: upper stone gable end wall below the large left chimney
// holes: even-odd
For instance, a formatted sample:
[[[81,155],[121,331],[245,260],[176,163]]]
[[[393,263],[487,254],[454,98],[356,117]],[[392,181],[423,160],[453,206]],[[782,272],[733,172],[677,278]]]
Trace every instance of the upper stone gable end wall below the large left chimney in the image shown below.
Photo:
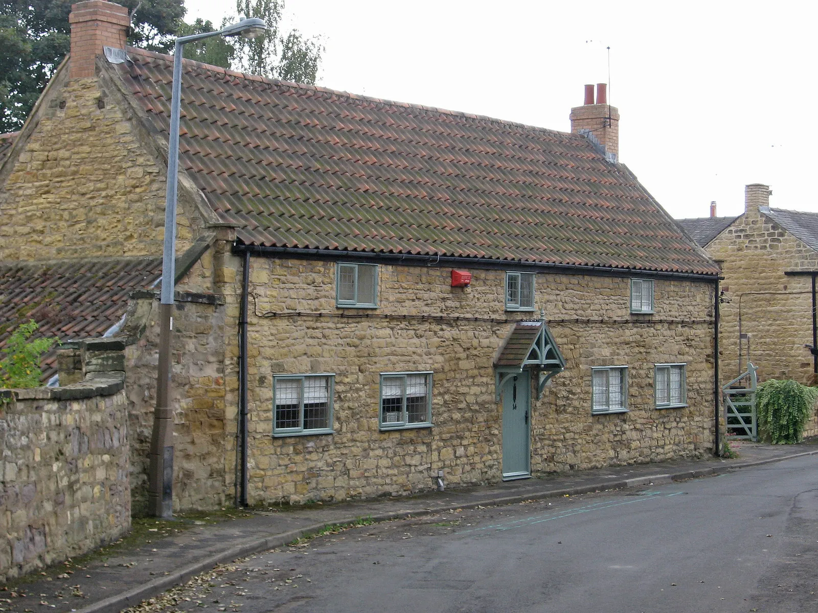
[[[166,170],[115,87],[66,72],[0,168],[0,260],[160,255]],[[180,198],[181,253],[194,230]]]

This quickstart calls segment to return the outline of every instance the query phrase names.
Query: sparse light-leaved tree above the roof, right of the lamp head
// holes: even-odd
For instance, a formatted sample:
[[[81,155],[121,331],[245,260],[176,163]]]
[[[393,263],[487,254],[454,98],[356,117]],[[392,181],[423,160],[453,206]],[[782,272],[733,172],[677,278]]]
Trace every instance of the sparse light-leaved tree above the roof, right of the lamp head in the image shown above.
[[[297,29],[281,33],[284,0],[236,0],[241,18],[260,17],[267,33],[258,38],[237,38],[236,68],[263,77],[315,84],[321,53],[319,38],[304,38]]]

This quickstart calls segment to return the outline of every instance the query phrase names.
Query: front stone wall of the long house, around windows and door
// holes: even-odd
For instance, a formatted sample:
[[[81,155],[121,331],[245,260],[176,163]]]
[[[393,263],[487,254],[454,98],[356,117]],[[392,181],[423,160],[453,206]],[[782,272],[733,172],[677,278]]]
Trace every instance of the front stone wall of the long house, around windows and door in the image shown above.
[[[227,257],[222,276],[240,278]],[[524,271],[524,269],[520,269]],[[631,315],[627,277],[537,274],[537,311],[505,311],[505,271],[379,267],[380,307],[335,307],[335,263],[253,257],[249,301],[249,501],[303,502],[501,479],[492,362],[514,322],[546,313],[568,362],[532,406],[535,475],[712,453],[712,285],[655,280],[654,315]],[[238,288],[238,284],[233,284]],[[238,295],[225,293],[226,329]],[[227,342],[235,380],[236,338]],[[688,406],[654,408],[654,364],[687,364]],[[628,365],[628,413],[591,415],[591,366]],[[434,427],[380,432],[380,373],[434,372]],[[335,374],[335,433],[272,436],[272,375]],[[536,397],[533,395],[533,397]],[[227,387],[233,475],[236,388]]]

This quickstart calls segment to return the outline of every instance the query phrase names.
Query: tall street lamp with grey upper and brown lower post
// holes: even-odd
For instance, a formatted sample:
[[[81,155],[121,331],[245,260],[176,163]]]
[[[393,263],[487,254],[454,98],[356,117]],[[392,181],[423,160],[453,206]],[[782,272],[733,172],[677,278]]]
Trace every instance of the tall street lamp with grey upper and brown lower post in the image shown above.
[[[173,285],[176,277],[176,193],[179,165],[179,106],[182,97],[182,47],[213,36],[256,38],[267,30],[264,20],[252,18],[228,25],[218,32],[191,34],[176,39],[173,51],[173,88],[168,136],[168,185],[164,204],[164,249],[160,300],[159,373],[156,377],[156,408],[151,435],[151,466],[148,470],[148,512],[154,517],[173,517],[173,409],[170,402],[170,338],[173,330]]]

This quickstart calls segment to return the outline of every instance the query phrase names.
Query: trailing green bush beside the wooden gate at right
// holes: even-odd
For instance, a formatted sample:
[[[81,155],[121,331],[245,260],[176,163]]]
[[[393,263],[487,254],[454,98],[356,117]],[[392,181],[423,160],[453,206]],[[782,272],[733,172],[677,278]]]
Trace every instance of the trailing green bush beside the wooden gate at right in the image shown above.
[[[804,425],[818,399],[818,389],[793,380],[770,379],[758,387],[758,427],[773,444],[801,442]]]

